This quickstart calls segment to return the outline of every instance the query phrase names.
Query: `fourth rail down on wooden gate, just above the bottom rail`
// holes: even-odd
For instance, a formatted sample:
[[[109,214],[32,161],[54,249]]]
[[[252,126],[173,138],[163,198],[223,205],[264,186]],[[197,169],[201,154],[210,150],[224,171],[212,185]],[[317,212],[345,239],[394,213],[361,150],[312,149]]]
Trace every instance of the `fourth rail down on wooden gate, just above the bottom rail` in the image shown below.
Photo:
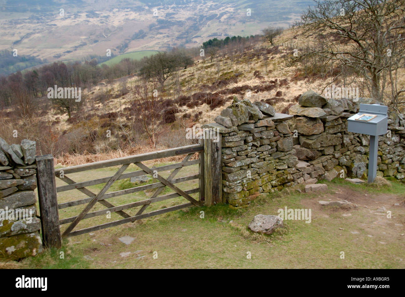
[[[196,188],[196,189],[191,189],[191,190],[187,190],[185,191],[185,193],[187,194],[193,194],[193,193],[197,193],[200,189]],[[102,216],[107,214],[107,211],[110,212],[118,212],[120,210],[124,210],[124,209],[129,209],[129,208],[134,208],[134,207],[138,207],[141,205],[146,205],[146,204],[151,204],[153,202],[159,202],[159,201],[163,201],[163,200],[167,200],[167,199],[172,199],[172,198],[176,198],[181,196],[178,193],[173,193],[173,194],[167,194],[167,195],[163,195],[160,197],[156,197],[156,198],[151,198],[151,199],[145,199],[142,201],[137,201],[137,202],[132,202],[132,203],[128,203],[128,204],[123,204],[120,206],[115,206],[115,207],[111,207],[111,208],[106,208],[106,209],[102,209],[102,210],[97,210],[95,212],[89,212],[88,214],[86,214],[83,219],[90,219],[93,218],[94,216]],[[76,219],[77,216],[71,216],[70,218],[66,218],[66,219],[61,219],[59,221],[60,225],[63,224],[67,224],[70,222],[73,222]]]

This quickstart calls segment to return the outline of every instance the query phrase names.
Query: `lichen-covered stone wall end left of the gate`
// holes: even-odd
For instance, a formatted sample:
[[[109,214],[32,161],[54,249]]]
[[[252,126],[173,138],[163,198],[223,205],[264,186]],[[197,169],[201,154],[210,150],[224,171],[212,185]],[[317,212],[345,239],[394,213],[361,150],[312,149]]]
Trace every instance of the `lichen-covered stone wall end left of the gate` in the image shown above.
[[[11,146],[0,138],[0,258],[20,259],[43,250],[36,217],[35,142]]]

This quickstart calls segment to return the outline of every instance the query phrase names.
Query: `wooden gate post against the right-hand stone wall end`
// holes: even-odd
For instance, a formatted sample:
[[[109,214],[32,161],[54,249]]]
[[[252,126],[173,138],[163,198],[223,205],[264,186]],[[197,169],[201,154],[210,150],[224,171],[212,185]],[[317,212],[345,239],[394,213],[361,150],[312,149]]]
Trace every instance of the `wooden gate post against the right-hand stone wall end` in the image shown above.
[[[204,131],[204,204],[222,203],[222,134]]]

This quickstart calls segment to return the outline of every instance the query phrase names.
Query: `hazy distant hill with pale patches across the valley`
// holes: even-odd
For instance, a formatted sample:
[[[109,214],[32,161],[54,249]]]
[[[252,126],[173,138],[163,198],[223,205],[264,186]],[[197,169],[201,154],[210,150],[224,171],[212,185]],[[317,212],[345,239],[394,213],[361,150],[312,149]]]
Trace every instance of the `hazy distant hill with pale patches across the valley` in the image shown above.
[[[0,1],[0,50],[16,48],[53,62],[105,56],[107,49],[118,56],[198,47],[210,38],[259,34],[268,25],[288,28],[311,4],[312,0],[5,0]]]

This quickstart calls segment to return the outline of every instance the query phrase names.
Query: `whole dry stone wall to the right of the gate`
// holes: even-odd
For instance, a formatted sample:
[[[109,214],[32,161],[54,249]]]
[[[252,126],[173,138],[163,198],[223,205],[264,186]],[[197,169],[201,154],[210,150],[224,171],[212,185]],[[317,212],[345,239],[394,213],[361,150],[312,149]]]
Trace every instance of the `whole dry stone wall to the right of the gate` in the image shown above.
[[[224,202],[241,207],[257,193],[320,179],[367,179],[369,136],[347,132],[347,118],[371,102],[328,100],[309,91],[298,103],[284,115],[264,102],[235,99],[216,123],[203,125],[222,134]],[[403,119],[390,112],[388,134],[379,137],[379,176],[404,180]]]

